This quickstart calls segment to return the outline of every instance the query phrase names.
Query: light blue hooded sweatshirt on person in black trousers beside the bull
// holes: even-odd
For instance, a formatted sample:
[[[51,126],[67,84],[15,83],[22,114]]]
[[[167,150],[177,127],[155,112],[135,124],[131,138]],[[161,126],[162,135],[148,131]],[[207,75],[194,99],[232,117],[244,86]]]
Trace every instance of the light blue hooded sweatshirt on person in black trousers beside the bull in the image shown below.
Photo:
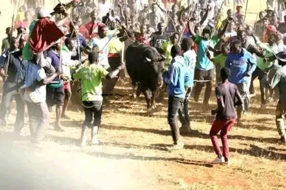
[[[164,79],[168,85],[168,93],[171,96],[184,98],[186,95],[185,81],[188,81],[188,76],[184,64],[182,56],[176,56],[171,61],[171,66]]]

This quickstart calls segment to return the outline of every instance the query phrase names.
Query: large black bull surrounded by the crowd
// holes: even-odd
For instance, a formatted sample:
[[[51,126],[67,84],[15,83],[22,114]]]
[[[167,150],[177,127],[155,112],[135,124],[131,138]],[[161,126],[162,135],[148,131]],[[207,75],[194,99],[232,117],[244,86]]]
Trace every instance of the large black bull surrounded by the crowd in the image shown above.
[[[137,95],[144,94],[149,111],[155,107],[155,94],[163,85],[165,57],[155,48],[137,42],[128,46],[125,56],[132,86],[138,87]]]

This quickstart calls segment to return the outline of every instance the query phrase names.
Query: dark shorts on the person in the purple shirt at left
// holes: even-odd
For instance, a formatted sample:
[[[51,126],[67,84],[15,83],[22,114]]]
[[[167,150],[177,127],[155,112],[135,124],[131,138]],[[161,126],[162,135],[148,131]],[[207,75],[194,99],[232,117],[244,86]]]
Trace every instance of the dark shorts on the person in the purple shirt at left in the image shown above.
[[[59,88],[47,87],[47,98],[46,102],[49,107],[57,105],[62,106],[64,103],[64,86]]]

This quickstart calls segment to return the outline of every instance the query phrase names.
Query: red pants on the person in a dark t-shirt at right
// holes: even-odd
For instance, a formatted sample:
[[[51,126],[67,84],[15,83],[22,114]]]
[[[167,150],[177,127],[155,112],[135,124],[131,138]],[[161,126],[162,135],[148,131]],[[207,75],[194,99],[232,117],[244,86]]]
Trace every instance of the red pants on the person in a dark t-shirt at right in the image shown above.
[[[229,158],[227,132],[234,126],[235,122],[236,119],[215,120],[213,122],[212,128],[210,129],[210,138],[213,143],[214,151],[216,152],[217,155],[221,155],[219,142],[216,136],[220,131],[220,138],[223,145],[223,157]]]

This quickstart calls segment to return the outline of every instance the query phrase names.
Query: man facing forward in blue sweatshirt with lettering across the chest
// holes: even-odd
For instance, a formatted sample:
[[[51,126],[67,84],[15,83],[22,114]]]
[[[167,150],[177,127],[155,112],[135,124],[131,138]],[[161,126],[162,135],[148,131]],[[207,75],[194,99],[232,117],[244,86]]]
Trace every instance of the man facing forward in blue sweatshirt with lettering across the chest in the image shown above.
[[[229,82],[236,84],[244,101],[244,106],[238,106],[237,109],[237,123],[240,125],[242,124],[243,111],[249,111],[249,84],[251,75],[256,68],[253,56],[241,46],[240,40],[234,41],[226,59],[226,67],[231,71]]]

